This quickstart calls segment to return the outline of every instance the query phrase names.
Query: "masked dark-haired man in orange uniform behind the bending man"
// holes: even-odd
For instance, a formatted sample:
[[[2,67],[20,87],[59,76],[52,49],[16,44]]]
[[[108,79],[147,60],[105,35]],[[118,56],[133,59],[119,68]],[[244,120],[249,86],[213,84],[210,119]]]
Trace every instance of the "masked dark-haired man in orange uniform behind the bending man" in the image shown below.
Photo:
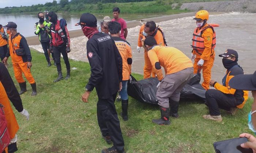
[[[138,40],[138,47],[143,47],[145,49],[144,40],[148,36],[153,36],[155,38],[155,41],[157,41],[158,45],[167,46],[166,42],[165,42],[165,39],[164,39],[164,34],[163,34],[162,30],[155,24],[154,21],[148,21],[145,24],[142,33],[140,32],[139,37],[141,37],[141,34],[143,35],[143,38],[141,40],[141,43],[139,41],[140,40],[140,38],[139,38],[139,40]],[[137,47],[137,50],[139,50],[138,47]],[[143,75],[143,78],[147,79],[147,78],[150,78],[150,76],[151,76],[152,66],[151,66],[150,60],[149,60],[149,58],[147,56],[146,49],[144,50],[144,60],[145,60],[145,64],[144,64],[144,75]],[[152,77],[155,77],[155,73],[152,73]],[[160,79],[163,79],[163,75],[158,76],[158,77],[160,77]]]

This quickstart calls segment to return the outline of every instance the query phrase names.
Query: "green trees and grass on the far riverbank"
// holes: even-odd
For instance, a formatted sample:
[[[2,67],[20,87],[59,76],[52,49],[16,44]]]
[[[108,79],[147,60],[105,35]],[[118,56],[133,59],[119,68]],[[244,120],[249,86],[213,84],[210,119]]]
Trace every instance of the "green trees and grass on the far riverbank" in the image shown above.
[[[119,7],[122,13],[156,13],[179,9],[182,3],[204,1],[221,0],[59,0],[58,3],[54,0],[53,2],[32,6],[0,8],[0,14],[45,10],[54,12],[111,13],[113,7]],[[177,7],[172,8],[173,3],[178,3]]]

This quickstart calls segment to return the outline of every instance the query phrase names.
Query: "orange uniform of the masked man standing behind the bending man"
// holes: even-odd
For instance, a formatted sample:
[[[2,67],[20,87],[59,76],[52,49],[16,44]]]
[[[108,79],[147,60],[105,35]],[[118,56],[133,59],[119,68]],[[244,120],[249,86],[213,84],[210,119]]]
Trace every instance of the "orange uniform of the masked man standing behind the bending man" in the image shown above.
[[[139,38],[138,38],[138,46],[144,48],[145,64],[144,64],[143,78],[147,79],[147,78],[150,78],[151,73],[152,73],[152,77],[155,77],[155,73],[152,72],[152,66],[151,66],[150,60],[147,56],[147,50],[145,49],[145,46],[144,46],[144,40],[146,39],[146,37],[143,36],[143,34],[142,34],[142,32],[144,31],[144,27],[145,27],[145,24],[143,24],[140,27],[140,33],[139,33]],[[165,46],[165,43],[163,41],[163,35],[162,35],[161,31],[158,30],[157,33],[155,34],[154,38],[155,38],[155,41],[157,41],[158,45]],[[163,76],[163,74],[161,76]],[[161,79],[163,79],[163,77],[161,77]]]

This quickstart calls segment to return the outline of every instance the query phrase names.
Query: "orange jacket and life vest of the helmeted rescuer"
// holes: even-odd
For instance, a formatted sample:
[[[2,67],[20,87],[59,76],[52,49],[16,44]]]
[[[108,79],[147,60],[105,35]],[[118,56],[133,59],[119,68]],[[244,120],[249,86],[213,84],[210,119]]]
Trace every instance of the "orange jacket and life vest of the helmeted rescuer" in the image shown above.
[[[196,58],[209,60],[214,55],[216,46],[216,34],[213,27],[207,23],[203,27],[197,27],[193,33],[192,48]]]

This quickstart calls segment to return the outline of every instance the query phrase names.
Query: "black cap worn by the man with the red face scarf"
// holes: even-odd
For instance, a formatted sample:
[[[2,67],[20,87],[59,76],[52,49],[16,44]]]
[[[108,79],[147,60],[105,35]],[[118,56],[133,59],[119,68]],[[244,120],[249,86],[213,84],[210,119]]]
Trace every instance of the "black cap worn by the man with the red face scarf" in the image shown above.
[[[80,22],[76,23],[75,26],[84,25],[88,27],[97,27],[97,19],[93,14],[84,13],[80,18]]]

